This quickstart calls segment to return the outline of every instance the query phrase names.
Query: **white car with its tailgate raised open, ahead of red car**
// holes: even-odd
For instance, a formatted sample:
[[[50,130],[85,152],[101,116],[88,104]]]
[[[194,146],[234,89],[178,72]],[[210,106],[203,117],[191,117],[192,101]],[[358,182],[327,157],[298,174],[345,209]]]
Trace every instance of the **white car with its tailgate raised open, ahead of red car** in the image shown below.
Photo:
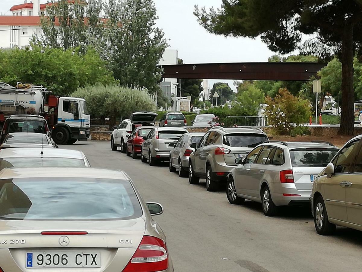
[[[123,120],[118,126],[113,127],[111,135],[111,149],[117,151],[121,147],[121,152],[127,152],[127,135],[129,136],[135,127],[140,125],[155,125],[157,114],[154,112],[140,111],[134,112],[131,119]]]

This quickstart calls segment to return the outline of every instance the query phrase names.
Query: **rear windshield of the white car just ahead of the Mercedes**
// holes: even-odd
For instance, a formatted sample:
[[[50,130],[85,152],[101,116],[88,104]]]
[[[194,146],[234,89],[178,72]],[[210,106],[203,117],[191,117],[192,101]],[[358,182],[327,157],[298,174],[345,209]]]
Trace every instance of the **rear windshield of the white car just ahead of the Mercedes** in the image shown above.
[[[37,149],[38,150],[38,149]],[[0,158],[0,170],[18,167],[84,167],[84,160],[76,158],[41,158],[41,157],[12,157]]]

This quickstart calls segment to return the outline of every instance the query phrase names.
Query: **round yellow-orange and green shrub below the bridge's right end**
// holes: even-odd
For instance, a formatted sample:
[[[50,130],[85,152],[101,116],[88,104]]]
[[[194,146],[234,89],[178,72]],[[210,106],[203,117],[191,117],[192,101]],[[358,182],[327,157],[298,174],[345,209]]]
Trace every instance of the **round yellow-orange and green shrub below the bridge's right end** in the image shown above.
[[[292,95],[286,88],[280,88],[274,99],[268,96],[266,104],[268,123],[280,135],[290,134],[294,126],[306,123],[311,115],[310,102]]]

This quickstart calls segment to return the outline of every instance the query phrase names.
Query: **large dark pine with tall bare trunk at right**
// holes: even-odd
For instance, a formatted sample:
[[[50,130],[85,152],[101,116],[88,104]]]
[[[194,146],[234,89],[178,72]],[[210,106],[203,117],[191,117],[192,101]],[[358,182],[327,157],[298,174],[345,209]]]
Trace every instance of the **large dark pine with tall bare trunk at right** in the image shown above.
[[[342,116],[339,134],[354,132],[353,56],[362,51],[361,0],[223,0],[221,9],[195,7],[200,24],[211,33],[261,36],[280,54],[295,49],[320,57],[338,54],[342,63]],[[302,45],[303,34],[314,34]]]

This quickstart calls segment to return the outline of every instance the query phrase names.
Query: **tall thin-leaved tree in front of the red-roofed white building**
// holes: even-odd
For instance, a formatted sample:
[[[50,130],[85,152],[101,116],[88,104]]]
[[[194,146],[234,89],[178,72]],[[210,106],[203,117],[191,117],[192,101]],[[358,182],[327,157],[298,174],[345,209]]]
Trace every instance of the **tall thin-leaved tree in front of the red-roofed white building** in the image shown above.
[[[98,44],[104,29],[103,20],[99,18],[102,1],[93,0],[51,0],[47,5],[47,15],[42,15],[43,34],[34,36],[35,44],[51,48],[80,48],[81,53],[89,44]]]

